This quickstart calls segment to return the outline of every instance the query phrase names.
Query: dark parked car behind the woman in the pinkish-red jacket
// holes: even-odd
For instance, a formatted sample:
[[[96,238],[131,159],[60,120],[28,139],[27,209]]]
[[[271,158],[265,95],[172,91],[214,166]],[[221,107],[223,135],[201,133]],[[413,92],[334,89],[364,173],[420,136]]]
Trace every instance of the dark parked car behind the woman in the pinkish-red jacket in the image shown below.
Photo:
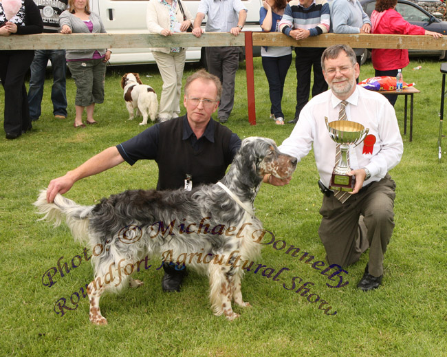
[[[371,14],[375,9],[375,0],[360,0],[360,3],[362,4],[364,12],[366,12],[368,16],[371,17]],[[444,36],[447,33],[446,21],[436,19],[436,17],[430,14],[430,12],[427,12],[411,1],[398,0],[395,10],[399,12],[402,17],[412,25],[421,26],[428,31],[439,32]],[[408,50],[408,54],[410,56],[438,56],[440,60],[444,60],[444,58],[446,58],[446,51],[440,50]],[[367,58],[370,57],[371,51],[365,50],[362,54],[362,64],[365,63],[367,61]]]

